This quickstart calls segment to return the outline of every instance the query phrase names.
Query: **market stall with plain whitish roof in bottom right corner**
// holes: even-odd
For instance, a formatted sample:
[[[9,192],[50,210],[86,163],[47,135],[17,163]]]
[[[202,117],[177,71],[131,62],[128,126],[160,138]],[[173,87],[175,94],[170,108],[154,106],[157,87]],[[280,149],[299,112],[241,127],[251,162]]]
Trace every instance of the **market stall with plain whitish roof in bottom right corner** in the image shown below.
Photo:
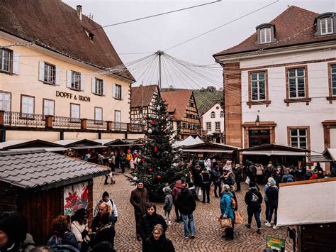
[[[336,251],[336,177],[280,184],[276,226],[296,226],[298,250]]]

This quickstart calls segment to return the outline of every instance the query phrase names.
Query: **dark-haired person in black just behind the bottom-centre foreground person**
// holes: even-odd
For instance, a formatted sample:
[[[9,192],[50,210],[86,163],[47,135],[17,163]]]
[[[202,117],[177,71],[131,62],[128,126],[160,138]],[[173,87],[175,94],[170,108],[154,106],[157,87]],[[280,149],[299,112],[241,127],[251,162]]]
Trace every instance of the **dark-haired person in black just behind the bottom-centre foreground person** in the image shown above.
[[[147,238],[150,237],[154,226],[157,224],[161,224],[163,227],[163,231],[167,230],[167,223],[164,221],[164,218],[157,214],[157,207],[153,203],[147,203],[147,213],[141,217],[140,219],[140,236],[142,239],[142,247]]]

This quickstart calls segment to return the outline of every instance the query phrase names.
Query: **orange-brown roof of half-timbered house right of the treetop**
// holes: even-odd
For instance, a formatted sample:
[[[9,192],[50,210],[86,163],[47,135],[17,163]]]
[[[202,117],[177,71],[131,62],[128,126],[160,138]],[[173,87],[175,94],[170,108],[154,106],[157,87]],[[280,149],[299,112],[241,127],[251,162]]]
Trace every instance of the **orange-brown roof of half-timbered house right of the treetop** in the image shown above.
[[[167,112],[172,114],[174,120],[182,121],[191,94],[193,94],[193,90],[177,90],[161,93],[162,99],[167,104]]]

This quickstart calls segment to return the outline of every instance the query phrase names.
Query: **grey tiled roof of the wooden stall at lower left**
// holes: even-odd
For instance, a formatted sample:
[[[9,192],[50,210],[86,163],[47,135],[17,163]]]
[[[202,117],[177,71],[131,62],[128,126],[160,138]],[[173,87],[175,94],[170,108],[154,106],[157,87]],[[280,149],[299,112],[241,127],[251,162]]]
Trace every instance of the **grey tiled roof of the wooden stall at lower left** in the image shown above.
[[[6,155],[6,153],[9,153]],[[98,165],[49,152],[0,152],[0,181],[25,189],[106,173]],[[56,185],[55,185],[56,186]]]

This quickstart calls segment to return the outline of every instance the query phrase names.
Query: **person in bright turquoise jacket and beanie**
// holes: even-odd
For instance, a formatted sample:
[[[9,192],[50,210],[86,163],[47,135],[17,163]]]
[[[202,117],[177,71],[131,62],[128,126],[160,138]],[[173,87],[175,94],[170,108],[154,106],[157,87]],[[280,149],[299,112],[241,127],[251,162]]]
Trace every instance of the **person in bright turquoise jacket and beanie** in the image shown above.
[[[229,185],[223,186],[223,195],[220,199],[220,212],[222,215],[220,216],[223,219],[230,218],[232,227],[227,228],[225,236],[225,240],[232,241],[233,240],[233,234],[234,234],[234,226],[235,226],[235,209],[233,209],[233,193],[230,191]],[[237,202],[236,202],[237,203]]]

